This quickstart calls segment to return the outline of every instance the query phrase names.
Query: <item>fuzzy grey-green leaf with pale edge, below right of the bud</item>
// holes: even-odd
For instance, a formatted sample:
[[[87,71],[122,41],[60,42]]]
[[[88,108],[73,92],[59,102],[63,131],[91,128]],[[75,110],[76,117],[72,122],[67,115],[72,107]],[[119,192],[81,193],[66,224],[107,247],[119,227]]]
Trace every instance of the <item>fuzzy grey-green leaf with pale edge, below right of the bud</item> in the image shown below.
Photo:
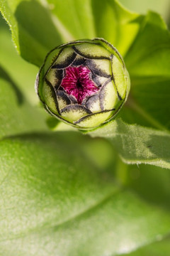
[[[116,119],[92,132],[108,139],[127,164],[154,164],[170,169],[170,134]]]

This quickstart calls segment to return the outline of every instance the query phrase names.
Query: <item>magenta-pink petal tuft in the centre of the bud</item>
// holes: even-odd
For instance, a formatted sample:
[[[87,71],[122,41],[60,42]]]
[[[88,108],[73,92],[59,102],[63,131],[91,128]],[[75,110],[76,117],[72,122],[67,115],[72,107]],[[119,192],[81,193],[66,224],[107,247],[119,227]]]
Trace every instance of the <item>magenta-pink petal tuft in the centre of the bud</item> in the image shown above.
[[[98,92],[99,88],[89,78],[91,72],[89,68],[80,65],[79,67],[68,67],[65,72],[61,87],[67,94],[73,95],[79,104],[85,97]]]

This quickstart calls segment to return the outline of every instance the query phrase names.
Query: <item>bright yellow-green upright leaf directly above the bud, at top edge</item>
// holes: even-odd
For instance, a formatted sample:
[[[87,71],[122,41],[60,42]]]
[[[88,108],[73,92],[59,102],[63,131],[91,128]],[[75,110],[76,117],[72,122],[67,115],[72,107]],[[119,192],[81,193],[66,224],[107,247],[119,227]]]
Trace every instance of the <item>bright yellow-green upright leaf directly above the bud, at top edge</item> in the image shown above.
[[[91,0],[47,0],[64,41],[94,38],[96,29]]]

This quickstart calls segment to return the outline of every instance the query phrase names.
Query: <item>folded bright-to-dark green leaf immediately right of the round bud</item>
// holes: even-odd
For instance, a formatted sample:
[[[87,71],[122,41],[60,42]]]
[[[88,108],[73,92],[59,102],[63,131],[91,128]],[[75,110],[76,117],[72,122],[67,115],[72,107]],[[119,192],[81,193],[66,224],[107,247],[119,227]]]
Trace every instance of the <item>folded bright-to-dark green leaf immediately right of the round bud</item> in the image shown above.
[[[169,129],[170,33],[162,18],[149,12],[125,55],[130,73],[131,95],[122,118],[127,122]],[[133,119],[127,112],[136,112]],[[133,114],[131,114],[132,117]]]

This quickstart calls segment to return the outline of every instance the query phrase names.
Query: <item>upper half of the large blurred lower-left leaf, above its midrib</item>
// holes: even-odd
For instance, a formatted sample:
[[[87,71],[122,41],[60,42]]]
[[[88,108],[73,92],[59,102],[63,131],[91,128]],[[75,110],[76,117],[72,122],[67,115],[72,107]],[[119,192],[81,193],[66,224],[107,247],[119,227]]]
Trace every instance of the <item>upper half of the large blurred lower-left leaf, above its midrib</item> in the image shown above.
[[[59,225],[117,190],[113,178],[79,150],[76,135],[31,134],[1,142],[1,239]]]

